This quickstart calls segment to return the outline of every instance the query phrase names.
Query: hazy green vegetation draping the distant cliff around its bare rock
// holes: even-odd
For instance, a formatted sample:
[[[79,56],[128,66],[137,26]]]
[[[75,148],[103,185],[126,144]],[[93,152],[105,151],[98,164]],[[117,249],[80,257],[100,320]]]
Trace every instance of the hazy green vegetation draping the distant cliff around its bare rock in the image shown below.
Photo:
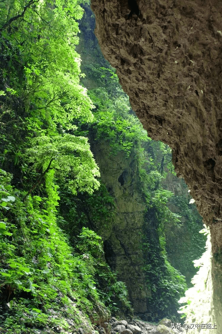
[[[180,265],[178,262],[176,263],[178,270],[172,267],[166,253],[166,247],[172,248],[174,241],[169,238],[167,244],[165,233],[170,230],[183,230],[184,226],[185,229],[192,231],[190,233],[194,233],[192,240],[195,238],[195,243],[199,245],[194,257],[198,257],[201,256],[205,245],[204,238],[198,234],[201,223],[199,220],[196,221],[195,213],[188,206],[188,226],[187,223],[181,223],[181,216],[178,214],[180,212],[174,213],[167,207],[169,199],[176,202],[177,207],[180,205],[179,201],[177,202],[178,197],[175,198],[171,191],[166,190],[165,186],[161,186],[161,184],[164,185],[163,179],[168,174],[174,173],[171,150],[163,143],[151,141],[135,118],[128,98],[120,90],[115,72],[101,57],[93,35],[94,18],[88,7],[85,8],[85,17],[81,21],[80,27],[84,38],[80,38],[80,46],[78,47],[85,50],[82,55],[82,67],[88,73],[88,76],[81,80],[88,88],[89,96],[96,106],[94,122],[87,128],[90,141],[107,142],[111,147],[110,154],[112,155],[124,151],[126,158],[133,156],[133,164],[136,166],[139,176],[137,186],[142,189],[147,203],[143,226],[143,270],[151,296],[147,299],[148,313],[144,315],[144,318],[157,320],[163,316],[172,317],[176,315],[179,308],[177,300],[186,289],[184,277],[178,270],[184,269],[185,273],[186,268],[192,266],[192,258],[190,256],[191,259],[185,258],[183,260],[180,257],[178,260],[181,262]],[[91,53],[90,57],[89,53]],[[83,128],[86,130],[86,127]],[[121,183],[120,178],[118,181]],[[185,214],[186,203],[189,203],[188,196],[183,199],[183,203],[184,209],[181,213]],[[86,211],[89,212],[89,210]],[[94,223],[93,228],[99,231],[96,225]],[[181,228],[181,226],[183,227]],[[105,229],[109,228],[105,227]],[[179,232],[177,232],[177,238],[180,237],[178,234]],[[190,245],[189,255],[194,252],[195,243],[192,242]],[[184,248],[186,248],[186,244]],[[182,248],[179,247],[179,249]]]

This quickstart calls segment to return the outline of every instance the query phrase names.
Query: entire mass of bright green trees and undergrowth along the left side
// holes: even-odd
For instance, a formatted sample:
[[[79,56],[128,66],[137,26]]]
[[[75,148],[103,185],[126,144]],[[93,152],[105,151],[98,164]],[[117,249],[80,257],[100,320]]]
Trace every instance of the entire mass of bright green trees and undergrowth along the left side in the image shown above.
[[[108,319],[96,289],[99,268],[116,301],[130,307],[102,257],[101,238],[83,228],[74,249],[58,227],[58,184],[72,194],[100,185],[88,140],[75,125],[93,120],[75,51],[83,10],[73,1],[0,5],[1,327],[66,332],[84,327],[83,312],[92,322]]]

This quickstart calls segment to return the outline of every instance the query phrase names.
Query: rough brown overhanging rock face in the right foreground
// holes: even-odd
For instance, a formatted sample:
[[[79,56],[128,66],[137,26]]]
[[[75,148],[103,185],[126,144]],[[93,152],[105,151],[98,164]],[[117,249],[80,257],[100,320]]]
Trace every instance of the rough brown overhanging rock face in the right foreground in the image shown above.
[[[216,322],[222,328],[222,2],[92,0],[96,35],[148,135],[172,148],[210,226]]]

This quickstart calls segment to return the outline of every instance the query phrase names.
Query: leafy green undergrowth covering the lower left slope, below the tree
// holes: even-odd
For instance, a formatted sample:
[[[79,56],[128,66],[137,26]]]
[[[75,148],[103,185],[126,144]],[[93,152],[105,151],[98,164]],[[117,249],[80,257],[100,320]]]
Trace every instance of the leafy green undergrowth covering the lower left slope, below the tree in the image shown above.
[[[92,300],[99,302],[91,253],[74,253],[57,225],[58,196],[51,188],[50,174],[48,196],[29,196],[23,202],[24,192],[14,190],[10,174],[1,170],[1,196],[6,197],[1,202],[0,225],[1,325],[6,333],[23,333],[26,327],[29,333],[35,333],[35,327],[68,330],[70,316],[79,323],[78,307],[90,313]],[[84,235],[86,231],[80,237]],[[101,253],[98,238],[87,240],[96,243]]]

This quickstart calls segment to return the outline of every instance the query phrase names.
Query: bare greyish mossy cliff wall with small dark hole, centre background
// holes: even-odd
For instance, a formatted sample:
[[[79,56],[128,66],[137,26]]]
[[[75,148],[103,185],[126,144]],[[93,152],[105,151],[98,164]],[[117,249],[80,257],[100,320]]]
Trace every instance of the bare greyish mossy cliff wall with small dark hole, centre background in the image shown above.
[[[100,226],[105,258],[111,269],[118,273],[118,279],[126,283],[135,313],[144,313],[147,311],[146,299],[150,296],[142,270],[146,201],[139,188],[135,157],[131,154],[126,158],[124,152],[113,156],[109,143],[90,142],[100,167],[101,180],[116,205],[113,225],[109,228]]]

